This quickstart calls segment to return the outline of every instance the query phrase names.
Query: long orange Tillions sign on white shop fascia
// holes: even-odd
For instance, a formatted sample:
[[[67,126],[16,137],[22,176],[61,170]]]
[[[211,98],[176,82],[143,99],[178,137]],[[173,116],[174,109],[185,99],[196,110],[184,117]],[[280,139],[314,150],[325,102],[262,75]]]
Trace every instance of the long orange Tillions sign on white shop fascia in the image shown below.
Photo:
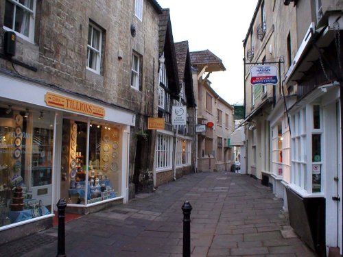
[[[51,92],[45,94],[45,103],[47,106],[57,107],[64,110],[71,110],[74,112],[80,112],[88,114],[93,117],[104,118],[105,108],[101,106],[95,106],[91,103],[79,101],[62,95],[57,95]]]

